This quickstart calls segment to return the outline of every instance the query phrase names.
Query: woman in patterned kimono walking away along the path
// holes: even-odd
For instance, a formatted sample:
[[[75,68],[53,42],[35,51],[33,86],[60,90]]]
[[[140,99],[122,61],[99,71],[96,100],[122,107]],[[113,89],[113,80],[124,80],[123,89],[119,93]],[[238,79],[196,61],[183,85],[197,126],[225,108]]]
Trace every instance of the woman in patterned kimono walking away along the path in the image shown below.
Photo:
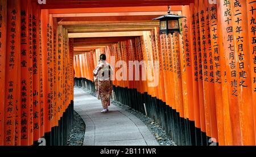
[[[106,62],[106,55],[100,55],[100,61],[96,69],[93,70],[95,89],[98,99],[101,99],[103,110],[101,113],[107,113],[110,106],[110,95],[112,95],[113,83],[112,67]]]

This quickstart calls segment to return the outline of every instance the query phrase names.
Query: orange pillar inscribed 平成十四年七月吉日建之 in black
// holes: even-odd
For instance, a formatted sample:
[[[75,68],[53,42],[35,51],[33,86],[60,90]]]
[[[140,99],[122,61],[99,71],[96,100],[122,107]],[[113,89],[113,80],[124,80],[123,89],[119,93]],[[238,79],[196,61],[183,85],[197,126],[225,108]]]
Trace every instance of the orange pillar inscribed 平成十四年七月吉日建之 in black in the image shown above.
[[[241,142],[241,126],[238,113],[238,89],[237,89],[237,65],[234,48],[234,26],[232,19],[232,8],[230,0],[218,1],[220,7],[217,10],[218,24],[222,29],[218,29],[220,37],[220,60],[221,60],[221,77],[222,77],[222,95],[224,111],[229,110],[230,115],[224,115],[225,128],[228,133],[225,138],[228,145],[239,145]],[[229,129],[230,127],[236,129]],[[235,144],[236,143],[236,144]]]

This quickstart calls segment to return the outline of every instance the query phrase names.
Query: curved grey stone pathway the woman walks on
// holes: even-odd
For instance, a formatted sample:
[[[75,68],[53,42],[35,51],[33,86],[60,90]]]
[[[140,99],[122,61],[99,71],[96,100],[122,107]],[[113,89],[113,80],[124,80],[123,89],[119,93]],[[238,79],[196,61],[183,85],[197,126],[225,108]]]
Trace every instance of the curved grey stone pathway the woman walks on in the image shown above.
[[[147,126],[133,114],[111,105],[101,113],[101,101],[75,88],[75,111],[85,121],[84,146],[158,146]]]

